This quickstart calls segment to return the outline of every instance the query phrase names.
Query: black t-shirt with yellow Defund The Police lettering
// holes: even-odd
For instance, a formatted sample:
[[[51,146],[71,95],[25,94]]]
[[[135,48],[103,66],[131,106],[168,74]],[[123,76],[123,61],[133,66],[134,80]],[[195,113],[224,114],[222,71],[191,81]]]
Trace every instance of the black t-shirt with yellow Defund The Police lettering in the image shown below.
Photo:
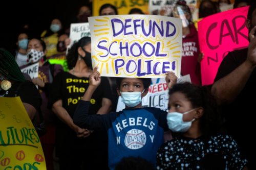
[[[73,118],[76,106],[82,99],[84,92],[89,86],[89,78],[79,78],[69,72],[60,72],[53,80],[52,89],[49,97],[49,106],[51,107],[56,101],[62,100],[62,107],[67,110]],[[111,99],[110,84],[105,77],[101,77],[101,83],[95,90],[90,101],[90,114],[96,114],[101,107],[102,98]],[[91,145],[95,139],[95,133],[84,139],[78,139],[73,130],[65,123],[58,121],[56,131],[56,143],[60,149],[65,149],[67,145]]]

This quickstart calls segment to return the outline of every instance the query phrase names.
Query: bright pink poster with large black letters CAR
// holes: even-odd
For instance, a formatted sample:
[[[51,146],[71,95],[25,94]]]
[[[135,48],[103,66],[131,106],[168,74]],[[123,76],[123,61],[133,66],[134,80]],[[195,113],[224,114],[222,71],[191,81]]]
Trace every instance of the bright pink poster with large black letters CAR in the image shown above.
[[[198,22],[202,85],[214,83],[223,58],[228,52],[248,46],[246,18],[249,7],[208,16]]]

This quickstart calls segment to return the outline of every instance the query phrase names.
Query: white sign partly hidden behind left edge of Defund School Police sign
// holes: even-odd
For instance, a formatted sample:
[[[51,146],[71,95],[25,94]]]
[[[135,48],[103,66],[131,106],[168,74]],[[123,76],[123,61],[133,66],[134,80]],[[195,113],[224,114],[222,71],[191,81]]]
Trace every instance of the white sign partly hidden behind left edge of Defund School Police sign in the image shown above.
[[[70,35],[69,38],[71,40],[68,49],[71,48],[71,46],[77,42],[82,37],[90,37],[90,29],[89,29],[89,23],[71,23],[70,25]]]

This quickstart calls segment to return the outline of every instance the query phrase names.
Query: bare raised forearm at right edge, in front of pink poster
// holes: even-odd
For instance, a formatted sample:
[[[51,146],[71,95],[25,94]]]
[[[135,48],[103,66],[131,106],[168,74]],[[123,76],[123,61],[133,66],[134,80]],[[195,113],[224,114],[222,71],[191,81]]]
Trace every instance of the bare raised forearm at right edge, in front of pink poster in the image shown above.
[[[244,88],[251,72],[256,66],[256,38],[254,27],[249,34],[247,59],[230,74],[221,78],[212,85],[211,93],[216,97],[218,104],[231,103]]]

